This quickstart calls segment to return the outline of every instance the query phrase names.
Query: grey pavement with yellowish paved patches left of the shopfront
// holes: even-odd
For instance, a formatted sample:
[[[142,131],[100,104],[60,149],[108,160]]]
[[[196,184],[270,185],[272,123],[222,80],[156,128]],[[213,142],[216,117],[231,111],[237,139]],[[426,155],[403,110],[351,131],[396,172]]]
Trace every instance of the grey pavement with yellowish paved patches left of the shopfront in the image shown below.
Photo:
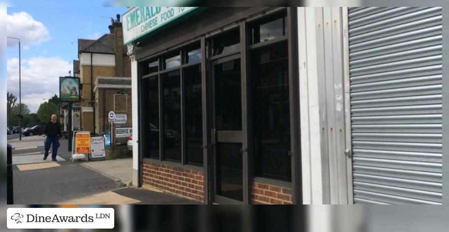
[[[57,162],[43,160],[41,136],[10,138],[15,204],[197,204],[160,191],[124,187],[132,179],[132,158],[70,162],[60,140]],[[50,151],[51,154],[51,151]]]

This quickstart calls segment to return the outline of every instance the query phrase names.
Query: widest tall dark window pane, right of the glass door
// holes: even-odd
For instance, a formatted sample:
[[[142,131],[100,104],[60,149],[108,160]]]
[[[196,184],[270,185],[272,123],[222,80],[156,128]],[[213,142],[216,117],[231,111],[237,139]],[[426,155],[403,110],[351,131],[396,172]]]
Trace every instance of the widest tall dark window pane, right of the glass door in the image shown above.
[[[252,51],[255,174],[291,181],[287,42]]]

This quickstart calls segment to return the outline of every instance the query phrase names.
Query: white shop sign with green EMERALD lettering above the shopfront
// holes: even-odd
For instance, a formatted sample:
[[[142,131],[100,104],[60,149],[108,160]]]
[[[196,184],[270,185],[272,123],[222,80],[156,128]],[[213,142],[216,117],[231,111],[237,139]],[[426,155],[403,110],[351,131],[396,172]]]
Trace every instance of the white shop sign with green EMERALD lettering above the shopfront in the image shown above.
[[[124,44],[130,43],[196,8],[198,7],[132,7],[122,16]]]

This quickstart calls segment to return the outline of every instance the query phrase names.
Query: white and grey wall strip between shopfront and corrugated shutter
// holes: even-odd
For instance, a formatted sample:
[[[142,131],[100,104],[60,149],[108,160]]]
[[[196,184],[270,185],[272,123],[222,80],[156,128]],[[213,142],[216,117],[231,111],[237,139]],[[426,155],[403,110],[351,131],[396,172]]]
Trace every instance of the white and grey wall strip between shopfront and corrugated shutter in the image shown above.
[[[348,203],[341,7],[298,7],[303,203]]]

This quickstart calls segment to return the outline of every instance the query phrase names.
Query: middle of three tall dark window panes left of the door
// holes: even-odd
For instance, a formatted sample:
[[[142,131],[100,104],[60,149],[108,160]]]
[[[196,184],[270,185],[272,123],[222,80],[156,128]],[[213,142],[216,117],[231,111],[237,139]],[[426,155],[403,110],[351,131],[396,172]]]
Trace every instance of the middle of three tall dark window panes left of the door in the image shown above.
[[[181,161],[181,88],[180,70],[161,75],[162,82],[162,120],[163,120],[163,158]]]

